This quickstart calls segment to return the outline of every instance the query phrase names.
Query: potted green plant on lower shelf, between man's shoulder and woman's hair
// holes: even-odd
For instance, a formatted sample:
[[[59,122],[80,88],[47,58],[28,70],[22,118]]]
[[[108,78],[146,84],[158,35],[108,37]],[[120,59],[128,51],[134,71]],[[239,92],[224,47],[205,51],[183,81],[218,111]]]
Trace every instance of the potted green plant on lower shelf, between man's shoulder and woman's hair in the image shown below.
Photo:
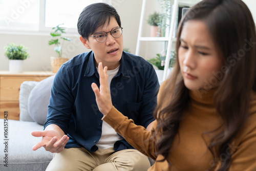
[[[156,70],[159,82],[161,82],[162,79],[163,79],[163,70],[164,70],[164,66],[165,66],[165,58],[166,58],[166,54],[163,51],[160,54],[159,53],[156,54],[156,57],[147,60],[153,66],[156,66],[157,69],[155,69],[155,70]],[[168,68],[168,74],[170,73],[170,71],[172,71],[174,63],[175,63],[175,52],[172,51],[171,52],[171,57],[170,57],[169,68]]]

